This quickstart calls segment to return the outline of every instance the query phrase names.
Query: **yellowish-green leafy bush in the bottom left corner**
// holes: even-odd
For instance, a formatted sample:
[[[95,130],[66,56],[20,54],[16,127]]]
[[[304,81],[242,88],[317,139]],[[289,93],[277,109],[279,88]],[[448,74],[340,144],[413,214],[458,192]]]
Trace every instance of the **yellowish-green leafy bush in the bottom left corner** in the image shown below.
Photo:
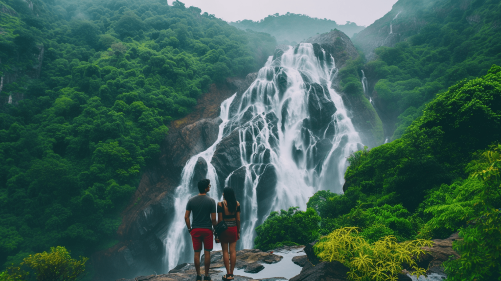
[[[0,273],[2,281],[29,280],[33,274],[37,281],[73,281],[85,275],[87,257],[72,258],[62,246],[51,247],[50,252],[42,252],[25,257],[19,265],[9,266]],[[26,271],[31,270],[31,271]]]

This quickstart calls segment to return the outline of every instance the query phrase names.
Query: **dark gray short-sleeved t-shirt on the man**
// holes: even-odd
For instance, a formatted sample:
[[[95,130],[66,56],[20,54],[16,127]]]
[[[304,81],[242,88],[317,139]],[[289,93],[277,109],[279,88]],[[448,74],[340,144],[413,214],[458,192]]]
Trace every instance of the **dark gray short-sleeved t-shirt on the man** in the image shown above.
[[[216,212],[216,201],[207,195],[195,195],[189,198],[186,210],[193,214],[191,228],[208,228],[212,230],[210,213]]]

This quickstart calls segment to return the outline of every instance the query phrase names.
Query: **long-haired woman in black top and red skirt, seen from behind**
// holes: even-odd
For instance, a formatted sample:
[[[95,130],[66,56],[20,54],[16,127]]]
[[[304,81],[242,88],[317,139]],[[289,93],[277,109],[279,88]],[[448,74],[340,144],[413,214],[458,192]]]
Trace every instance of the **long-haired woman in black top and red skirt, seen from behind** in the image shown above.
[[[224,281],[233,280],[233,269],[236,262],[236,240],[240,239],[240,203],[235,198],[231,187],[224,187],[223,200],[217,203],[217,223],[224,220],[228,229],[215,238],[216,243],[221,242],[222,258],[227,274],[222,276]],[[229,257],[228,257],[229,247]]]

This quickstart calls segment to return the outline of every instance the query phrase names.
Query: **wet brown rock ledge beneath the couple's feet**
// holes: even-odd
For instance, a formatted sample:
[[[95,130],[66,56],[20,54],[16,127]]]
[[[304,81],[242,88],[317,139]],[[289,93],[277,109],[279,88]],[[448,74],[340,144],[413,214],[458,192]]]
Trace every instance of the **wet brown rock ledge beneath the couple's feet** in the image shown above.
[[[272,252],[264,252],[259,249],[244,249],[236,252],[236,269],[244,269],[245,272],[257,273],[261,271],[264,266],[263,263],[271,264],[281,261],[283,256],[274,254]],[[201,257],[203,260],[203,255]],[[224,263],[222,260],[221,251],[213,251],[210,255],[210,271],[209,274],[213,280],[221,279],[222,275],[226,273]],[[200,268],[204,272],[204,266]],[[167,274],[152,274],[148,276],[138,276],[134,279],[118,279],[117,281],[181,281],[181,280],[194,280],[196,278],[195,265],[193,263],[182,263],[174,267]],[[235,275],[235,280],[255,280],[250,277]],[[276,281],[287,280],[283,277],[273,277],[260,280]]]

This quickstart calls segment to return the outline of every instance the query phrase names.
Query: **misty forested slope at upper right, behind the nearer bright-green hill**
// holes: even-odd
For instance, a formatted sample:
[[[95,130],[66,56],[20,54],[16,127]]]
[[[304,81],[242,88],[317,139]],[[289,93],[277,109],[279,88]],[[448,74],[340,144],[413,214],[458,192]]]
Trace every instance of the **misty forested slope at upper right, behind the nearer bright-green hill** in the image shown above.
[[[437,92],[501,64],[499,1],[419,1],[421,6],[418,1],[399,2],[399,8],[416,9],[415,15],[400,16],[394,24],[412,26],[419,20],[426,25],[395,47],[376,49],[377,59],[364,67],[366,75],[377,81],[374,95],[379,109],[396,121],[393,139],[421,115],[423,104]]]

